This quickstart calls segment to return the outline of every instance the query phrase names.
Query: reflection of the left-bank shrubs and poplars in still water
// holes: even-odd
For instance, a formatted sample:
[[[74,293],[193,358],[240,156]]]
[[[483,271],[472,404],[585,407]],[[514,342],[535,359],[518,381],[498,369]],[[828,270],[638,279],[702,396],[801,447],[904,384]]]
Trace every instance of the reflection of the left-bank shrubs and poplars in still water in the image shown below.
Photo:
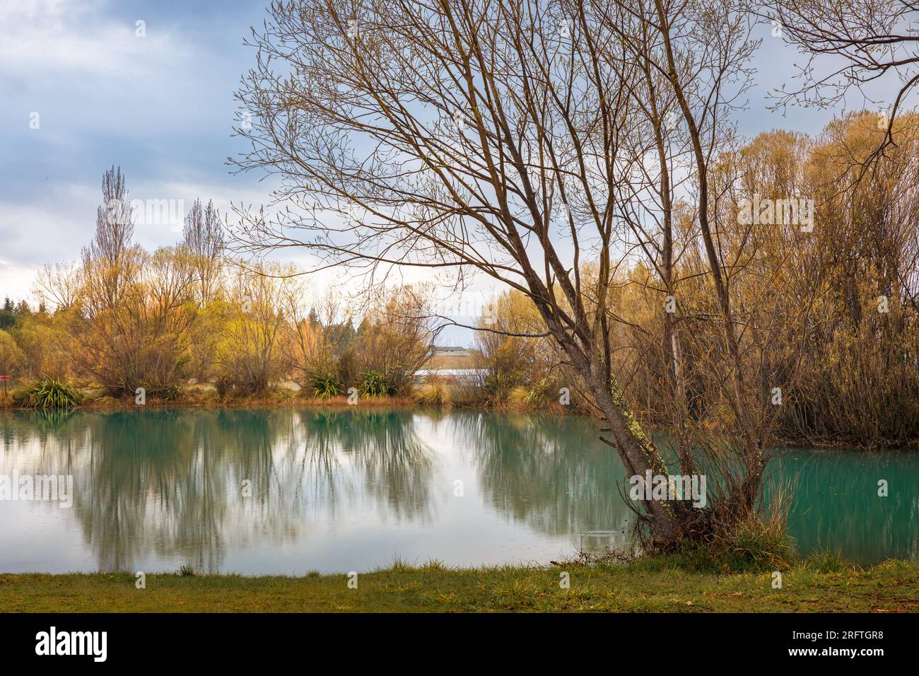
[[[216,571],[228,546],[297,540],[316,521],[346,518],[343,498],[430,519],[433,454],[411,416],[143,409],[0,420],[0,472],[74,475],[72,514],[100,570],[133,569],[153,551]]]

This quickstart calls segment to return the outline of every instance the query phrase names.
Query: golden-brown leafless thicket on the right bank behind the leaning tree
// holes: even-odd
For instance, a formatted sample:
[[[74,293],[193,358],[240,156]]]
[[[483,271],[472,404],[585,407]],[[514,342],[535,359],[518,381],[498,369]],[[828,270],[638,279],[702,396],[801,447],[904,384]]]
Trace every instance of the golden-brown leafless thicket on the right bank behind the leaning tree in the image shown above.
[[[772,414],[766,419],[774,418],[778,441],[919,443],[919,118],[902,119],[888,163],[855,182],[859,163],[883,138],[876,122],[857,113],[815,138],[760,134],[713,166],[718,184],[736,191],[732,204],[755,196],[766,210],[770,196],[801,194],[819,205],[805,236],[770,218],[720,239],[735,261],[731,284],[745,327],[746,381]],[[629,384],[623,394],[630,409],[667,429],[723,429],[736,416],[722,386],[727,355],[713,333],[695,236],[689,222],[675,235],[681,255],[669,291],[644,261],[618,272],[611,290],[619,320],[608,347],[613,372]],[[673,313],[664,308],[667,296],[675,300]],[[502,332],[547,330],[520,292],[506,292],[496,307],[494,328]],[[480,347],[490,382],[508,384],[506,393],[523,387],[529,397],[544,390],[557,396],[565,384],[587,391],[550,338],[486,334]]]

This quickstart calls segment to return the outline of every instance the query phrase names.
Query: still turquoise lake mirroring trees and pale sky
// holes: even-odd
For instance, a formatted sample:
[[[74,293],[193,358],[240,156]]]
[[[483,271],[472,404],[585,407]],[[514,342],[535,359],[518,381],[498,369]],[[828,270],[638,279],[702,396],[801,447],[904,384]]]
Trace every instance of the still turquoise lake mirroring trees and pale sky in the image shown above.
[[[784,449],[769,473],[797,483],[789,529],[804,554],[919,560],[919,454]],[[545,564],[582,542],[621,545],[634,522],[616,453],[573,416],[0,412],[0,478],[23,475],[61,475],[62,490],[72,476],[71,505],[0,498],[2,572]],[[618,533],[584,538],[596,531]]]

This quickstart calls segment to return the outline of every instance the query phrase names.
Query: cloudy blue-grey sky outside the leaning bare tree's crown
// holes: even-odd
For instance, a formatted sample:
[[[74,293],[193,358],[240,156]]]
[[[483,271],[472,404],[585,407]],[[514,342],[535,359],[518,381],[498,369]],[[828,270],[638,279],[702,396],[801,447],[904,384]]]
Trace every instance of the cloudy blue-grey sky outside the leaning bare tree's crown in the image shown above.
[[[243,41],[265,17],[266,3],[251,0],[0,0],[0,297],[30,298],[44,263],[79,258],[110,166],[132,200],[170,201],[176,213],[196,198],[221,212],[267,202],[262,176],[227,165],[244,148],[232,138],[233,91],[255,63]],[[831,113],[766,108],[801,57],[768,27],[758,35],[740,132],[819,132]],[[136,241],[174,244],[181,216],[139,223]],[[471,342],[469,331],[444,335]]]

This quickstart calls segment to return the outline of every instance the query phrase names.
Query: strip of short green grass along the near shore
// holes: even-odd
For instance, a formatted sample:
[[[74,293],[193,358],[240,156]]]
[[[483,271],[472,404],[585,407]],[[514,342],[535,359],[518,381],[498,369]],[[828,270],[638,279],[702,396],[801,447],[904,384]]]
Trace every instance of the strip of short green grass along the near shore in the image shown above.
[[[773,589],[763,573],[698,573],[652,557],[625,566],[450,569],[431,561],[357,577],[176,573],[0,575],[0,612],[883,612],[919,611],[919,564],[822,571],[803,563]],[[562,572],[570,589],[560,589]]]

